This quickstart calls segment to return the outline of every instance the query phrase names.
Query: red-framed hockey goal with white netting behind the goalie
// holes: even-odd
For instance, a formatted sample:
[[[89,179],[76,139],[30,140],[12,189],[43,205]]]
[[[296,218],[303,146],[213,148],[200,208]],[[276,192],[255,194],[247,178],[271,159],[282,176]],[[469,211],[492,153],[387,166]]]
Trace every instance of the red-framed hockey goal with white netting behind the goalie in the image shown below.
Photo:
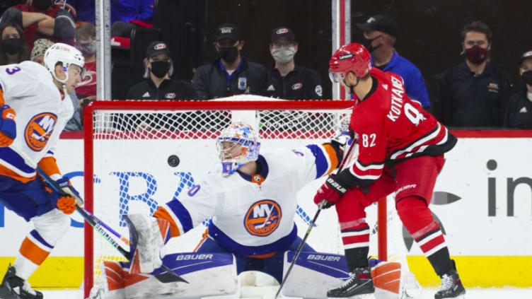
[[[234,98],[261,97],[246,95]],[[258,129],[259,138],[261,141],[265,140],[270,147],[278,146],[277,144],[304,146],[312,141],[330,139],[337,134],[341,129],[342,120],[345,122],[345,117],[349,119],[352,104],[351,100],[91,102],[84,110],[85,208],[112,228],[127,235],[127,228],[122,228],[119,219],[120,213],[137,209],[137,201],[143,201],[142,206],[149,206],[151,210],[148,211],[152,211],[155,204],[169,201],[172,190],[166,192],[163,189],[165,185],[175,184],[175,180],[180,182],[175,194],[178,194],[180,188],[186,188],[187,184],[190,186],[190,182],[186,181],[192,180],[189,170],[202,168],[204,159],[210,159],[210,164],[213,163],[209,156],[214,155],[209,153],[204,157],[200,154],[208,151],[209,147],[214,148],[217,132],[234,120],[235,115],[247,113],[245,122],[255,122],[252,125]],[[289,142],[277,143],[277,140]],[[175,151],[180,154],[184,155],[192,147],[197,156],[181,158],[178,168],[186,170],[165,169],[165,172],[161,172],[162,175],[157,174],[159,177],[172,179],[161,184],[163,179],[158,179],[154,173],[169,168],[166,155],[174,152],[174,143],[178,148]],[[182,143],[183,145],[180,145]],[[264,147],[261,151],[263,149]],[[135,166],[136,163],[147,164]],[[112,184],[108,183],[109,181],[112,181]],[[135,192],[140,192],[141,195]],[[167,196],[153,200],[157,197],[157,192]],[[139,200],[140,197],[143,197],[142,200]],[[378,209],[379,223],[386,223],[386,200],[379,202]],[[314,211],[309,210],[310,213]],[[305,211],[299,216],[304,222],[303,214]],[[378,226],[378,256],[387,259],[386,225]],[[339,236],[337,239],[341,242]],[[103,238],[95,236],[90,225],[85,226],[84,240],[84,288],[85,295],[88,296],[92,286],[98,282],[95,279],[98,277],[100,259],[115,259],[119,254],[113,252]],[[327,247],[326,244],[324,246]]]

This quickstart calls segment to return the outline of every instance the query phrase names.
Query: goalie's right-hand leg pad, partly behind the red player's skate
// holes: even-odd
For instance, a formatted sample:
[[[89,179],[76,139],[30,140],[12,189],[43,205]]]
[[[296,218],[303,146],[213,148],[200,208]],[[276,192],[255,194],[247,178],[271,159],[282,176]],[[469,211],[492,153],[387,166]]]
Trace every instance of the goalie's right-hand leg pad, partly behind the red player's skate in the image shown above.
[[[284,271],[287,271],[295,252],[284,253]],[[339,254],[301,252],[282,294],[288,297],[327,298],[327,291],[337,288],[349,279],[345,257]],[[401,264],[370,259],[371,275],[376,299],[400,299],[405,292],[406,275],[401,275]],[[401,279],[403,277],[403,279]],[[419,287],[414,283],[415,288]]]

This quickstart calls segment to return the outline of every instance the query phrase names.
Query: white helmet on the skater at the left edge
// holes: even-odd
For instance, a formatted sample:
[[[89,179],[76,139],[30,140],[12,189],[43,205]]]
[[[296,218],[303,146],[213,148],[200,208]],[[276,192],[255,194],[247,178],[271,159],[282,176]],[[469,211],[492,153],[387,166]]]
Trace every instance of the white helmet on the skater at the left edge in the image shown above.
[[[60,80],[55,75],[54,70],[58,62],[61,62],[63,64],[63,70],[67,75],[67,77],[63,80]],[[52,73],[52,76],[54,76],[57,81],[61,83],[67,82],[67,80],[69,79],[69,73],[67,72],[67,70],[69,69],[69,66],[71,64],[75,64],[76,66],[81,67],[81,77],[83,78],[83,74],[85,72],[85,67],[83,66],[85,64],[85,58],[83,58],[83,54],[81,54],[78,49],[72,47],[71,45],[57,42],[52,47],[46,50],[45,66],[48,71]]]

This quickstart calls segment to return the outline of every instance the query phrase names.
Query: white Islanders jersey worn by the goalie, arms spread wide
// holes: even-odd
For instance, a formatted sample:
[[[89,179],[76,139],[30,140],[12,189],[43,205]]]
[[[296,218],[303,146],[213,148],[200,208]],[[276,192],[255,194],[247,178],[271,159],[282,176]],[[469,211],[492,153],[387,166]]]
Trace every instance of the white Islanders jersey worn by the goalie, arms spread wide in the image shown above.
[[[311,144],[264,153],[257,162],[258,175],[210,173],[161,209],[179,234],[212,217],[209,238],[232,252],[264,256],[284,250],[297,236],[297,192],[337,167],[337,151],[330,144]]]

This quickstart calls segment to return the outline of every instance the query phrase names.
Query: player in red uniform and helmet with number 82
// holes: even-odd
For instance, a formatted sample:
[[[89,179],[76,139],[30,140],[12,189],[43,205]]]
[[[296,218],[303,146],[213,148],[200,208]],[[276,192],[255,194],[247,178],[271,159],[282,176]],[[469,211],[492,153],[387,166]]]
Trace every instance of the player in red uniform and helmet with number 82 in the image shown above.
[[[345,168],[330,175],[318,189],[316,204],[335,204],[351,277],[328,297],[374,293],[368,266],[369,225],[366,206],[395,194],[398,215],[441,277],[434,298],[461,298],[465,288],[449,257],[444,235],[432,218],[429,202],[444,153],[456,137],[419,102],[405,93],[403,79],[372,69],[369,52],[359,44],[337,49],[330,61],[330,78],[352,93],[355,105],[349,131],[358,150]]]

